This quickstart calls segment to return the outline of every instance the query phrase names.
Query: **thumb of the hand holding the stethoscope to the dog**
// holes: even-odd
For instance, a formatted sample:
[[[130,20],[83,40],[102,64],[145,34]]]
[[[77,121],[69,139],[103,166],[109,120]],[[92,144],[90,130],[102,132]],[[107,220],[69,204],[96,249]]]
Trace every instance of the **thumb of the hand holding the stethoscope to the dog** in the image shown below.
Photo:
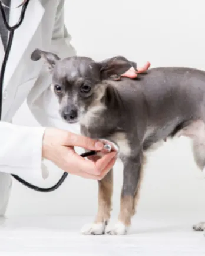
[[[67,142],[65,142],[65,146],[83,147],[84,149],[88,150],[100,151],[103,149],[104,144],[102,142],[99,142],[98,140],[94,140],[89,137],[85,137],[75,133],[69,133]]]

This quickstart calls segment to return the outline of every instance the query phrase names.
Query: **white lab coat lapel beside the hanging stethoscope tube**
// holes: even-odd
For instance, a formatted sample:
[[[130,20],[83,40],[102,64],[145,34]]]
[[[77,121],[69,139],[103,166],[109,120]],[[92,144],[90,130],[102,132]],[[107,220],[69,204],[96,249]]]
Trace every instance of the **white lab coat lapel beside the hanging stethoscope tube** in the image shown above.
[[[15,0],[11,0],[15,1]],[[17,11],[18,10],[18,11]],[[9,23],[16,24],[19,19],[21,8],[12,10],[10,12]],[[27,49],[29,42],[37,30],[45,9],[39,0],[31,0],[25,12],[24,21],[21,26],[14,32],[14,40],[9,54],[8,64],[6,66],[4,88],[8,85],[12,76],[14,75],[21,58]],[[41,38],[39,38],[41,40]]]

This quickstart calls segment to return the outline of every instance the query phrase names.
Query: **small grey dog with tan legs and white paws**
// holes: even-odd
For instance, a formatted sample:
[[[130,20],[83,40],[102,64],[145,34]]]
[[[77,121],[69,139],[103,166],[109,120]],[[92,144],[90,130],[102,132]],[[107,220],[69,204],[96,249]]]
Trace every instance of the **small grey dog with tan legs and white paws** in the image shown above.
[[[36,49],[31,59],[44,58],[52,73],[59,113],[79,122],[81,133],[116,142],[124,165],[118,222],[107,229],[113,193],[112,170],[98,182],[98,213],[83,234],[127,234],[135,214],[146,152],[167,137],[187,136],[193,142],[197,166],[205,166],[205,72],[194,68],[151,68],[137,79],[121,77],[137,64],[122,56],[102,62]],[[204,230],[205,222],[193,227]]]

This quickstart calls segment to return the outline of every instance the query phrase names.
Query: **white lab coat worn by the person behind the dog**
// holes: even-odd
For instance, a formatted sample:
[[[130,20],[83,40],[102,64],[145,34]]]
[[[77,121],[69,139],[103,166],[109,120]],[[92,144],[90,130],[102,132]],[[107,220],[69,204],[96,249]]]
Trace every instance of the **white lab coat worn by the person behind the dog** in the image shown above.
[[[15,1],[15,0],[12,0]],[[14,24],[19,12],[11,11]],[[24,22],[15,31],[14,43],[5,74],[2,121],[0,122],[0,172],[24,173],[42,178],[42,137],[44,127],[72,128],[58,114],[58,105],[49,86],[51,74],[42,61],[30,56],[35,48],[52,51],[59,57],[75,55],[71,37],[64,27],[64,0],[31,0]],[[0,64],[2,48],[0,42]],[[23,127],[11,124],[12,117],[27,99],[29,109],[42,127]],[[78,126],[75,126],[78,129]],[[4,175],[3,175],[4,176]],[[0,180],[1,180],[0,176]],[[1,183],[0,183],[1,185]],[[0,214],[1,214],[0,199]]]

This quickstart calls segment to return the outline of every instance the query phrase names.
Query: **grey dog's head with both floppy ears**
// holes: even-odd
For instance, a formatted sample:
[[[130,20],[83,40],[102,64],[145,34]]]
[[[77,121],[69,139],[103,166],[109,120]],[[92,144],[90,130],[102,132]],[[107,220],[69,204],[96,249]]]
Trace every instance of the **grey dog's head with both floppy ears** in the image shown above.
[[[44,58],[52,73],[52,90],[59,101],[59,113],[68,123],[80,121],[85,123],[91,117],[104,109],[102,99],[106,85],[104,80],[120,76],[136,63],[118,56],[95,62],[87,57],[69,57],[60,59],[51,52],[35,50],[31,59]]]

